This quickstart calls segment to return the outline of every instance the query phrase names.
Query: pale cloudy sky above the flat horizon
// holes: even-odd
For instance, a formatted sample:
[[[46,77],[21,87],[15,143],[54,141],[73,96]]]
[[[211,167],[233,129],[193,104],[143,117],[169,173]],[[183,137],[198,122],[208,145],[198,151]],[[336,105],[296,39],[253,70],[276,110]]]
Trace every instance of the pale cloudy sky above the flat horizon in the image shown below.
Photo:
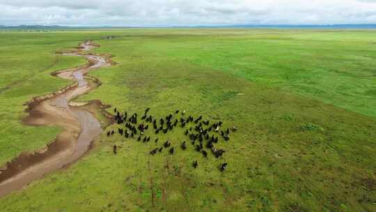
[[[0,25],[376,24],[376,0],[0,0]]]

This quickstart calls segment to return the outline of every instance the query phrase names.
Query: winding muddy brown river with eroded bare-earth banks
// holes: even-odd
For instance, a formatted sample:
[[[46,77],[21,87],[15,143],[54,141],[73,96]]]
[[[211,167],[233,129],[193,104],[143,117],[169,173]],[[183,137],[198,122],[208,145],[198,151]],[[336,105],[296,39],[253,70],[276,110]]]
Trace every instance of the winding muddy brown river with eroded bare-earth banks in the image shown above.
[[[64,79],[74,79],[77,85],[33,102],[24,123],[33,126],[61,126],[63,132],[45,149],[33,153],[24,152],[0,169],[0,197],[75,162],[90,149],[93,139],[102,132],[100,122],[91,112],[82,107],[70,106],[74,105],[70,102],[73,98],[95,87],[86,81],[84,75],[91,70],[112,65],[104,56],[85,52],[94,47],[93,43],[86,42],[81,43],[76,51],[62,53],[84,56],[89,63],[81,68],[70,68],[54,74]]]

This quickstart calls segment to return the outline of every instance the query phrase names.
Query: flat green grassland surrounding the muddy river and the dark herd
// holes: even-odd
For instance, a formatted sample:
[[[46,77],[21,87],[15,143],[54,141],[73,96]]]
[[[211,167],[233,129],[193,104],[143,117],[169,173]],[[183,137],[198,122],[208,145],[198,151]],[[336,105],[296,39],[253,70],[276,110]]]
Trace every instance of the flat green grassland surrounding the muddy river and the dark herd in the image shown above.
[[[116,36],[114,39],[102,39]],[[101,135],[69,169],[0,199],[3,211],[375,211],[375,31],[129,29],[0,33],[0,163],[51,142],[22,106],[69,82],[83,59],[54,51],[92,39],[118,64],[91,73],[100,99],[127,112],[175,111],[237,126],[224,158]],[[113,112],[113,108],[109,109]],[[118,128],[117,125],[109,129]],[[116,156],[112,146],[120,146]],[[161,142],[158,144],[161,145]],[[198,167],[191,162],[198,160]],[[218,165],[228,162],[226,172]]]

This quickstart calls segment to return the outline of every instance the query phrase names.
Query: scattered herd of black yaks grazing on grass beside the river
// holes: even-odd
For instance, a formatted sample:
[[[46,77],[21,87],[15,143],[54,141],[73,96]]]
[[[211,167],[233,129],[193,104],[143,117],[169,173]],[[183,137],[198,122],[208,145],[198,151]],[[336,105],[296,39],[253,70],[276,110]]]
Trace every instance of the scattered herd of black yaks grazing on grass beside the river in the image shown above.
[[[215,123],[210,124],[210,121],[204,121],[203,116],[199,116],[198,118],[194,119],[193,116],[187,116],[185,111],[181,112],[180,120],[176,119],[172,114],[169,114],[165,118],[157,120],[155,117],[148,115],[150,111],[150,107],[146,108],[145,114],[141,117],[141,123],[138,121],[138,116],[136,113],[132,114],[132,116],[128,116],[127,112],[120,114],[118,110],[115,108],[114,112],[115,121],[118,124],[125,124],[124,128],[118,128],[118,134],[124,136],[126,138],[136,138],[138,142],[150,142],[150,136],[144,136],[144,132],[149,129],[149,124],[155,130],[155,134],[158,133],[167,133],[172,131],[173,128],[180,127],[185,129],[184,134],[189,138],[191,144],[194,146],[194,149],[203,155],[203,157],[207,158],[207,150],[212,152],[215,158],[220,158],[225,151],[223,149],[215,148],[215,144],[218,143],[219,136],[223,138],[226,142],[230,139],[229,134],[230,130],[226,128],[226,130],[221,130],[222,121],[218,121]],[[179,114],[179,110],[175,111],[175,114]],[[189,127],[189,123],[194,123],[194,127]],[[150,128],[151,128],[150,127]],[[231,131],[235,132],[237,129],[235,126],[231,128]],[[114,134],[114,131],[111,130],[107,132],[107,136],[111,136]],[[155,139],[155,144],[158,142],[158,138]],[[187,150],[187,143],[182,142],[180,144],[180,148],[185,151]],[[158,152],[161,153],[163,149],[169,149],[169,153],[173,154],[175,149],[174,146],[171,146],[169,140],[163,143],[163,145],[159,148],[152,149],[150,154],[154,156]],[[113,146],[113,153],[116,154],[117,146]],[[198,166],[197,160],[193,162],[193,167],[196,168]],[[227,167],[227,162],[222,163],[219,166],[221,172],[224,172]]]

